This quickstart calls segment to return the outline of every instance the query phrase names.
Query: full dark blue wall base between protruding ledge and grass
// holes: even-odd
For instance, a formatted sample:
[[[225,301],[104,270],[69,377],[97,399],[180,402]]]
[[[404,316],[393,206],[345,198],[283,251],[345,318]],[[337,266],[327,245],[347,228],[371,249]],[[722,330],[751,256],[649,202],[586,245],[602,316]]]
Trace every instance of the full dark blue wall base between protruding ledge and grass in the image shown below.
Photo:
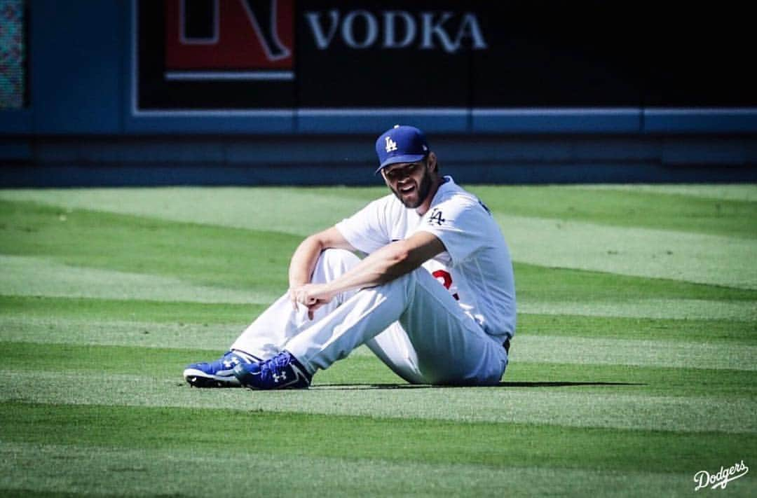
[[[757,136],[430,134],[466,183],[757,182]],[[0,140],[0,186],[381,185],[375,135]]]

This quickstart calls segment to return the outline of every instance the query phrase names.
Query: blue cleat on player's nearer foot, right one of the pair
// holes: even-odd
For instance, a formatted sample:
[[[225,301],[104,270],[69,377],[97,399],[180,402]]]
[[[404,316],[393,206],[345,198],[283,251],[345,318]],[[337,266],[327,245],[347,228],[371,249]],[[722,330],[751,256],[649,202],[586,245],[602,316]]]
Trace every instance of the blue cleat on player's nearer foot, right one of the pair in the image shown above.
[[[243,388],[250,389],[304,389],[313,378],[288,351],[258,363],[239,363],[234,375]]]

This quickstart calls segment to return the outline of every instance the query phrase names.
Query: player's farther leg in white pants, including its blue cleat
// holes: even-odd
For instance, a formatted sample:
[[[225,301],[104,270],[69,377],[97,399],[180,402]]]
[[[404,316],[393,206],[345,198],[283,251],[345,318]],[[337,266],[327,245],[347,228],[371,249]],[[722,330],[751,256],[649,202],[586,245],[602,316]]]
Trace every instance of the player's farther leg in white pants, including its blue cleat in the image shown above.
[[[313,282],[329,282],[356,265],[360,259],[349,251],[324,251],[313,270]],[[284,344],[305,327],[326,316],[352,293],[341,294],[329,305],[316,310],[313,321],[307,318],[307,310],[292,309],[288,294],[280,297],[261,314],[232,344],[220,359],[210,363],[192,363],[184,370],[184,378],[198,388],[238,387],[233,375],[238,364],[250,364],[268,359],[282,351]]]

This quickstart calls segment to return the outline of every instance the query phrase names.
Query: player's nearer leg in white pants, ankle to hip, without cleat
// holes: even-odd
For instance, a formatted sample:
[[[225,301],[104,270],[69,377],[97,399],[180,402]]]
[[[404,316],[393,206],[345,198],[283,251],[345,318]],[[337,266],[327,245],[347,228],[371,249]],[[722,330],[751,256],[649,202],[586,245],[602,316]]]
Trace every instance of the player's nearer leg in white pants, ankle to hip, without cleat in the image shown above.
[[[359,291],[285,349],[313,374],[361,344],[416,383],[496,384],[507,364],[501,341],[487,335],[425,269]]]

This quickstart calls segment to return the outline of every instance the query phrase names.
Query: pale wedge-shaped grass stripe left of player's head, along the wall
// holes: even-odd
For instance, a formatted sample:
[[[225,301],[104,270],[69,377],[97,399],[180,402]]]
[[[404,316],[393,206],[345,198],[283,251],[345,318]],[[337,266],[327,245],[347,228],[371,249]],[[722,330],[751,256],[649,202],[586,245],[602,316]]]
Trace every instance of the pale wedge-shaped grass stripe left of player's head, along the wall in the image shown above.
[[[332,226],[386,195],[385,188],[72,188],[0,190],[0,199],[79,210],[142,216],[176,223],[282,232],[298,238]],[[285,209],[268,209],[281,206]]]

